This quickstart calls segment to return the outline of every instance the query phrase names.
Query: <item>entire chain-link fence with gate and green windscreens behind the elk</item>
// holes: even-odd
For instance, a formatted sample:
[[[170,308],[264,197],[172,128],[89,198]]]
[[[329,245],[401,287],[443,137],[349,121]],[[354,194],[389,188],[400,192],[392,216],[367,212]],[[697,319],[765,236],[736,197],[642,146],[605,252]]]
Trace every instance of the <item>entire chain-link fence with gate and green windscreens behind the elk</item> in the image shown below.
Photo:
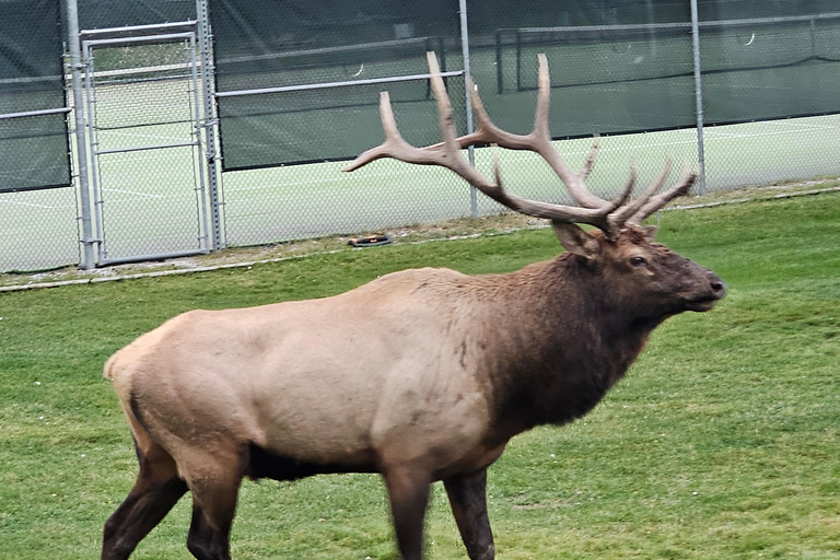
[[[19,67],[0,49],[0,156],[14,170],[0,173],[0,271],[386,232],[502,211],[445,170],[380,160],[341,172],[384,139],[382,90],[408,141],[440,141],[427,51],[441,61],[459,133],[470,126],[467,65],[493,120],[527,132],[536,55],[545,52],[557,149],[580,167],[600,135],[587,184],[602,197],[618,192],[633,160],[641,188],[668,156],[676,162],[670,180],[682,163],[701,166],[698,192],[840,176],[836,0],[698,0],[693,19],[692,2],[676,0],[78,2],[88,40],[80,98],[90,208],[78,176],[75,188],[44,189],[54,186],[50,170],[61,168],[56,153],[69,164],[68,144],[81,164],[74,130],[66,128],[66,117],[75,116],[70,92],[67,103],[37,107],[57,110],[58,129],[2,116],[32,109],[20,105],[31,95],[9,95],[14,90],[5,84],[52,75],[69,88],[69,70],[55,69],[60,42],[42,49],[48,61],[30,65],[26,75],[11,70]],[[65,13],[57,0],[36,3],[59,20]],[[43,16],[38,27],[0,15],[2,28],[48,35]],[[212,52],[201,46],[205,23],[212,24]],[[489,148],[471,155],[492,174]],[[571,203],[536,154],[502,153],[501,168],[512,191]],[[37,186],[21,188],[21,180]],[[89,243],[97,248],[92,262],[80,255],[78,223],[86,211]]]

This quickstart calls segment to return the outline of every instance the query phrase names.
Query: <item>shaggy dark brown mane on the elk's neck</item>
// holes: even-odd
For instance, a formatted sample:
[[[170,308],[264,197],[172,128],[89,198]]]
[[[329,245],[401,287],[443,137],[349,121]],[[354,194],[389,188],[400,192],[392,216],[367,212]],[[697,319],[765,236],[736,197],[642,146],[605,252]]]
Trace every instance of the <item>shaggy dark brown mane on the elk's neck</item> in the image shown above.
[[[629,312],[599,272],[598,265],[564,253],[515,272],[478,277],[482,320],[477,332],[465,335],[462,351],[489,380],[502,440],[588,412],[661,323]]]

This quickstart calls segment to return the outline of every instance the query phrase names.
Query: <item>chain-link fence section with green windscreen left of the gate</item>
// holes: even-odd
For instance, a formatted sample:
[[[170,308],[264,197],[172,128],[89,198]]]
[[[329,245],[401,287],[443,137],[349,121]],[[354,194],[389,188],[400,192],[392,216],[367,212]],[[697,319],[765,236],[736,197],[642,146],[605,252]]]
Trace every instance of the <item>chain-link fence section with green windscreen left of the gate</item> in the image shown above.
[[[0,270],[79,261],[59,2],[0,3]],[[35,113],[35,114],[33,114]]]

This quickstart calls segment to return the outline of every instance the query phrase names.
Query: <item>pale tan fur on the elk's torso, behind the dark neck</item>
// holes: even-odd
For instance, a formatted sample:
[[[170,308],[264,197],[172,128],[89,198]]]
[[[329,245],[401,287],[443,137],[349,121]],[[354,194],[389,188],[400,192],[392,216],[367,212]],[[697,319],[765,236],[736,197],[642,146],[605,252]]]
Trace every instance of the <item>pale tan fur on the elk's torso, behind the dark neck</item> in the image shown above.
[[[482,468],[498,455],[482,444],[488,387],[453,348],[468,332],[452,332],[475,325],[463,307],[481,313],[474,283],[409,270],[324,300],[189,312],[116,353],[106,375],[187,481],[208,440],[362,471],[432,456],[441,472]],[[452,285],[458,300],[435,293]]]

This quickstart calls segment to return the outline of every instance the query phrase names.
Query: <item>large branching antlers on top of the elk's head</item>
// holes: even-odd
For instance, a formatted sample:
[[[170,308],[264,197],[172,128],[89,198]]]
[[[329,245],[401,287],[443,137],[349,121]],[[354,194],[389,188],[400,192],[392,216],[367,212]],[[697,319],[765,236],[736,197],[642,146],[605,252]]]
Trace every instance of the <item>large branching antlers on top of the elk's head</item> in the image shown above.
[[[623,206],[635,184],[637,168],[633,163],[630,168],[630,179],[621,195],[612,200],[604,200],[593,195],[586,188],[586,177],[592,171],[597,155],[597,138],[593,144],[583,168],[575,173],[560,156],[560,153],[551,143],[548,132],[548,108],[550,82],[548,74],[548,61],[545,55],[538,55],[539,62],[539,89],[537,93],[537,107],[534,117],[534,129],[530,133],[522,136],[506,132],[497,127],[487,115],[478,88],[471,79],[467,79],[467,86],[472,97],[472,107],[478,116],[479,128],[477,131],[456,138],[455,125],[452,118],[452,105],[446,94],[446,89],[441,78],[438,59],[434,52],[427,52],[429,73],[431,74],[432,90],[438,104],[441,135],[443,142],[425,148],[416,148],[406,142],[399,133],[394,110],[390,106],[388,92],[380,94],[380,116],[385,131],[385,141],[359,155],[343,171],[350,172],[378,160],[380,158],[393,158],[407,163],[419,165],[439,165],[452,170],[467,180],[478,190],[489,196],[497,202],[516,212],[535,218],[546,218],[556,222],[587,223],[594,225],[608,236],[614,237],[625,223],[638,224],[646,217],[665,206],[672,199],[684,195],[693,184],[697,174],[684,173],[679,183],[656,197],[653,195],[662,187],[670,170],[670,162],[644,194],[635,201]],[[539,154],[553,170],[560,180],[567,186],[569,194],[580,207],[569,207],[528,200],[508,192],[501,182],[501,173],[498,161],[494,161],[495,182],[491,182],[479,173],[460,154],[460,150],[469,145],[491,143],[509,150],[528,150]]]

